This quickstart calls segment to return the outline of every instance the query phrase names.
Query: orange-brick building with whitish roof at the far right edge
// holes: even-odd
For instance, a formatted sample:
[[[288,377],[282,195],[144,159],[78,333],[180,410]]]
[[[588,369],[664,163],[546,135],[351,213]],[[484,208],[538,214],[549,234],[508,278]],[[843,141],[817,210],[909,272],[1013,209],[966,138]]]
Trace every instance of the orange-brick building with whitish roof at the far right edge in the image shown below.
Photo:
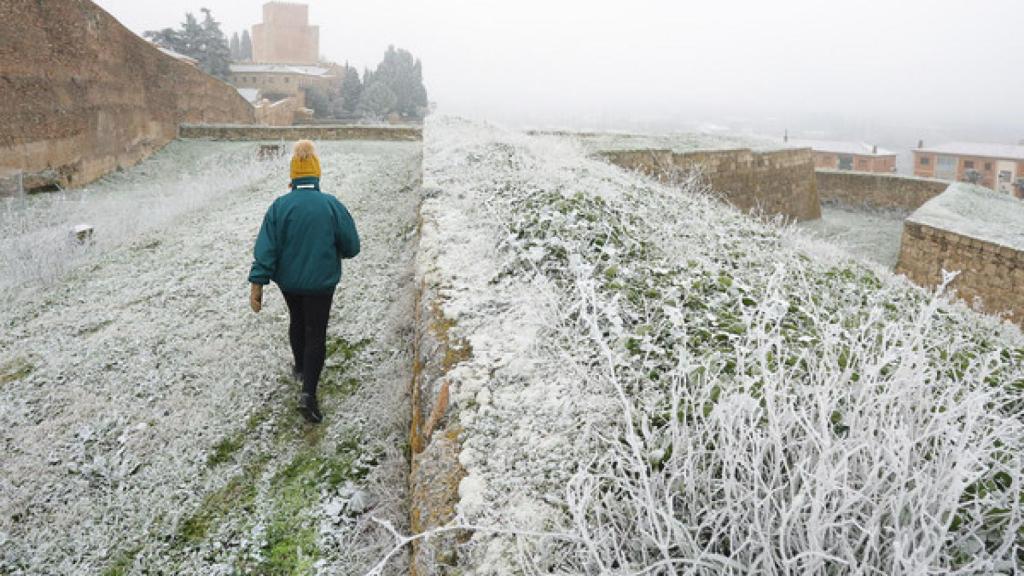
[[[1024,198],[1024,146],[951,142],[913,151],[915,176],[971,181]]]

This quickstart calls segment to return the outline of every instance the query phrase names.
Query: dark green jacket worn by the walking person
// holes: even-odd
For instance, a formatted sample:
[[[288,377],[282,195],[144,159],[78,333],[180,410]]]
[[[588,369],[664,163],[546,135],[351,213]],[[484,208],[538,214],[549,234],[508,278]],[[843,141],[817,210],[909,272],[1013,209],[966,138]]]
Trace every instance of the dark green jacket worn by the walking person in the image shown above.
[[[327,294],[341,280],[341,258],[359,253],[359,235],[348,209],[319,191],[319,178],[298,178],[273,201],[253,250],[249,282],[283,292]]]

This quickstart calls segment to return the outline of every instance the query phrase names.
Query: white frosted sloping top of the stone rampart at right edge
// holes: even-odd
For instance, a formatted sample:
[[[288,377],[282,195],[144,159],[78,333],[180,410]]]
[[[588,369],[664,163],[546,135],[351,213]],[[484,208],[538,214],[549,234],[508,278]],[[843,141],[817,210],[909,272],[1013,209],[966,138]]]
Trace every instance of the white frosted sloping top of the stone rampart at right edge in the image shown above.
[[[987,188],[954,183],[907,221],[1024,250],[1024,201]]]

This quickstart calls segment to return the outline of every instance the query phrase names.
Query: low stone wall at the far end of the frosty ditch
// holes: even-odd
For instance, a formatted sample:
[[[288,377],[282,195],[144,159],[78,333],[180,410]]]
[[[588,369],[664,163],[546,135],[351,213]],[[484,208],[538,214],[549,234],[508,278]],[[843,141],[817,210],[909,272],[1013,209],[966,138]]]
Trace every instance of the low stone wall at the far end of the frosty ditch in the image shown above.
[[[916,210],[949,187],[934,178],[847,170],[818,170],[816,178],[821,202],[904,212]]]

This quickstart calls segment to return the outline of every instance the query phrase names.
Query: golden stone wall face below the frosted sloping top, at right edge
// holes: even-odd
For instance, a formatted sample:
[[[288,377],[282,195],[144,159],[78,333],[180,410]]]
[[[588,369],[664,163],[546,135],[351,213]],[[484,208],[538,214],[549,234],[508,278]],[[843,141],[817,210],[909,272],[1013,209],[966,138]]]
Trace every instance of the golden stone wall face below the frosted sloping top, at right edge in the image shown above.
[[[1024,326],[1024,251],[1000,246],[923,223],[903,222],[896,273],[914,284],[932,288],[942,282],[942,271],[961,274],[950,284],[969,303],[976,299],[990,314],[1011,313]]]

